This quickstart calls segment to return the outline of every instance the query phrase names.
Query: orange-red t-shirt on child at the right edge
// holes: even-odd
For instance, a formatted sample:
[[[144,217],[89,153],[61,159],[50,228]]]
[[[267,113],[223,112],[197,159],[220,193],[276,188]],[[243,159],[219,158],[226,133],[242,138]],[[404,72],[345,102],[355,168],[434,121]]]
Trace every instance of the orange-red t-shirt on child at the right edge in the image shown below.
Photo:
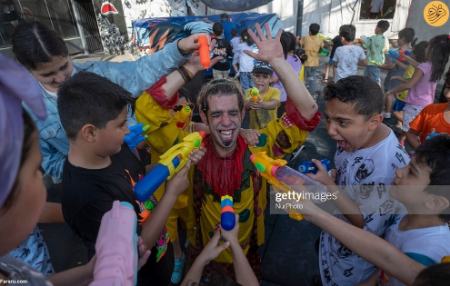
[[[430,104],[409,124],[409,129],[419,134],[420,142],[433,131],[450,134],[450,122],[445,121],[444,112],[448,103]]]

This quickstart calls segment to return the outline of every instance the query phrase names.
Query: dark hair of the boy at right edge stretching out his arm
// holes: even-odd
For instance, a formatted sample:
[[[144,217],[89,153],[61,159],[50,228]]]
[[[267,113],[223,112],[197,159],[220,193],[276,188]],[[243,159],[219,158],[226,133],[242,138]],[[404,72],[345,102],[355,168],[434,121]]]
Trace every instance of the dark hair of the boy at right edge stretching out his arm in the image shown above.
[[[450,136],[441,134],[425,140],[417,148],[415,158],[416,162],[426,164],[431,169],[427,191],[450,201]],[[450,221],[450,208],[439,214],[439,217]]]

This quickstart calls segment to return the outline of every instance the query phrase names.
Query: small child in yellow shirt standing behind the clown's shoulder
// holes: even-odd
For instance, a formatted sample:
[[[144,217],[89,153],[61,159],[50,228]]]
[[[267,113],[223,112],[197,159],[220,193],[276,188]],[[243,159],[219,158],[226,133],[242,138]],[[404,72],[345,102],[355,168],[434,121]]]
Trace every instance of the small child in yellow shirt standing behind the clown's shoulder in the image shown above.
[[[270,87],[273,70],[269,64],[255,62],[252,71],[252,81],[258,90],[258,95],[252,95],[253,89],[246,90],[246,106],[249,110],[250,128],[262,129],[271,120],[277,118],[277,107],[280,104],[280,91]]]

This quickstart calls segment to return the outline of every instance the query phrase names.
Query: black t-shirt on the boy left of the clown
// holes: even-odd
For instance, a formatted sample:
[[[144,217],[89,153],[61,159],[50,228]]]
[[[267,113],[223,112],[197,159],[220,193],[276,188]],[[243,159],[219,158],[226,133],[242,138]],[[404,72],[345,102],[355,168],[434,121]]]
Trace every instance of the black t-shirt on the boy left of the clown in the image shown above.
[[[103,214],[115,200],[131,203],[139,215],[131,180],[145,174],[145,165],[126,144],[111,157],[104,169],[84,169],[66,160],[63,171],[62,211],[65,221],[81,237],[89,258],[95,254],[95,241]]]

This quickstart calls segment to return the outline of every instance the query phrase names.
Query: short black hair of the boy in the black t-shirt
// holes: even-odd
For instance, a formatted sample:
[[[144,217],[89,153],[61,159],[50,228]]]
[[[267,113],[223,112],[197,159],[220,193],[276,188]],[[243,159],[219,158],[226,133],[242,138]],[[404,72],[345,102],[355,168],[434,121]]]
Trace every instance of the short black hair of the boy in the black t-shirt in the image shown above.
[[[76,138],[86,124],[104,128],[133,103],[128,91],[90,72],[75,74],[58,90],[59,117],[69,139]]]

